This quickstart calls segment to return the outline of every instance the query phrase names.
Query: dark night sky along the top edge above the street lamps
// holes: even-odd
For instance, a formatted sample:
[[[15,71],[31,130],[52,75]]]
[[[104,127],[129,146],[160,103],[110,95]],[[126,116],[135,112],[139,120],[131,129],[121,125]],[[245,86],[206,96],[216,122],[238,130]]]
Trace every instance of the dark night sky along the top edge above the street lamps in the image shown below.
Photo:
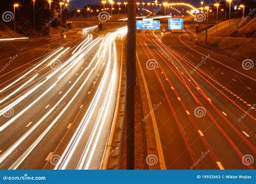
[[[129,1],[129,0],[114,0],[114,2],[124,2],[124,1]],[[147,3],[147,2],[153,2],[153,1],[155,1],[155,0],[144,0],[144,2],[145,3]],[[160,0],[158,0],[159,2],[162,2],[162,1],[160,1]],[[74,9],[82,9],[82,8],[84,8],[84,6],[86,5],[86,4],[101,4],[100,3],[101,2],[101,0],[71,0],[71,5],[70,5],[70,9],[71,10],[74,10]],[[143,2],[143,0],[138,0],[138,2]],[[165,0],[164,2],[173,2],[173,3],[175,3],[175,2],[177,2],[177,3],[179,3],[179,2],[186,2],[186,3],[191,3],[191,4],[193,4],[193,5],[195,5],[195,6],[199,6],[199,4],[200,4],[200,0],[175,0],[175,1],[172,1],[172,0],[169,0],[169,1],[167,1],[167,0]],[[213,2],[214,2],[214,0],[204,0],[204,2],[207,4],[212,4]]]

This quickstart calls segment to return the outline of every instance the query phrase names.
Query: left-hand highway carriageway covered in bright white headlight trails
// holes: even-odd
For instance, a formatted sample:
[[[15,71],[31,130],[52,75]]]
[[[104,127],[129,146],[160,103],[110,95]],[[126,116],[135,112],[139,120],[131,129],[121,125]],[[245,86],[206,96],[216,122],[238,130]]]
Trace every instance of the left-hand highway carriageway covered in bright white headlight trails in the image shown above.
[[[1,73],[1,169],[100,168],[126,32],[80,30]]]

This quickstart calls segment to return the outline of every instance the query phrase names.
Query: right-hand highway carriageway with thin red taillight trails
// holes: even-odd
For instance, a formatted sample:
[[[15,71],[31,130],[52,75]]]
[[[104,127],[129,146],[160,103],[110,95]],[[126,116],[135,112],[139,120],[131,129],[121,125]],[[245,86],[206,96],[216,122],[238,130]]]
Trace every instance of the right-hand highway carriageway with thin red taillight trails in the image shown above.
[[[182,34],[137,32],[138,71],[157,107],[166,168],[254,169],[255,68]]]

